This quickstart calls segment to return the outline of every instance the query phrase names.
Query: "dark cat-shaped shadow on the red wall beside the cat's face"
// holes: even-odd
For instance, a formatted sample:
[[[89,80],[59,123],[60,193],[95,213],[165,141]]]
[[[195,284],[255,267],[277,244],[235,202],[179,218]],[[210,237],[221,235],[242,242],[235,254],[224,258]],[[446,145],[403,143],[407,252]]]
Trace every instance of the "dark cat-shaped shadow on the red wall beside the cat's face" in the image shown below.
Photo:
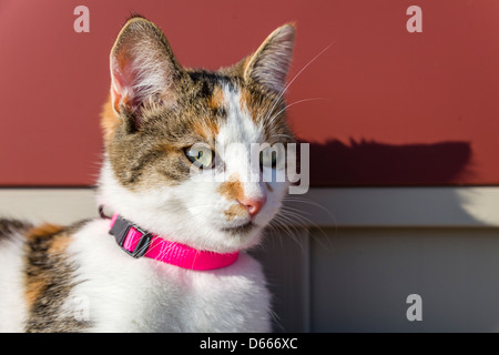
[[[449,185],[469,176],[469,142],[345,144],[338,140],[310,143],[313,186]]]

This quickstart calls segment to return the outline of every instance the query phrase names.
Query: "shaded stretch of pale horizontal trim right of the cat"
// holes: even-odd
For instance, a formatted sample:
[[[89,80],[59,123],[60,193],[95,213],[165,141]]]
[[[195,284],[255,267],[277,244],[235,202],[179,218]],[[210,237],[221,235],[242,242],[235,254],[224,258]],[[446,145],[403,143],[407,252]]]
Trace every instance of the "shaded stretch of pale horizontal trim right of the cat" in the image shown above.
[[[499,187],[310,189],[308,226],[498,227]]]

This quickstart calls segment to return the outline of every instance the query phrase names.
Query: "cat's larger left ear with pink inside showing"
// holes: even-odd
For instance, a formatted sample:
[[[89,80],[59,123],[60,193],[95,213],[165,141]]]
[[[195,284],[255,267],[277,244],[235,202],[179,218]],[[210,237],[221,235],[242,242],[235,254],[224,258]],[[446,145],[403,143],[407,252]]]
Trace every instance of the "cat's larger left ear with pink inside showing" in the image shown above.
[[[134,17],[121,30],[111,50],[111,99],[116,113],[126,108],[139,114],[146,101],[175,102],[182,67],[163,32],[151,21]]]

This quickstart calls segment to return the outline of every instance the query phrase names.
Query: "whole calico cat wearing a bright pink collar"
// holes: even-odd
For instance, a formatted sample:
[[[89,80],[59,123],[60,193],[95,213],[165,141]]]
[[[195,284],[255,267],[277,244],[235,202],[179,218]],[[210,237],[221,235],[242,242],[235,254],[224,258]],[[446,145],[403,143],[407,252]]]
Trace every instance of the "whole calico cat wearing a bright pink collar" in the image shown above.
[[[244,176],[251,144],[295,141],[283,99],[294,37],[285,24],[212,72],[181,67],[163,32],[132,17],[102,113],[98,205],[112,219],[0,220],[0,331],[269,332],[271,295],[245,251],[289,181]],[[277,155],[259,151],[257,174]]]

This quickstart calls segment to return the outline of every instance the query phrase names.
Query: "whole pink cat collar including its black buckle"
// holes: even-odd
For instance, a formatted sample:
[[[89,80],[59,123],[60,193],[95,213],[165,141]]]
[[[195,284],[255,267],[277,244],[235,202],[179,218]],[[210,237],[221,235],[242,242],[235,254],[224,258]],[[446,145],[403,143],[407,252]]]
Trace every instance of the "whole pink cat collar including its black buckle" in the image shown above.
[[[150,257],[189,270],[214,270],[232,265],[238,252],[218,254],[198,251],[187,245],[166,241],[140,229],[114,213],[109,233],[114,235],[123,251],[133,257]]]

